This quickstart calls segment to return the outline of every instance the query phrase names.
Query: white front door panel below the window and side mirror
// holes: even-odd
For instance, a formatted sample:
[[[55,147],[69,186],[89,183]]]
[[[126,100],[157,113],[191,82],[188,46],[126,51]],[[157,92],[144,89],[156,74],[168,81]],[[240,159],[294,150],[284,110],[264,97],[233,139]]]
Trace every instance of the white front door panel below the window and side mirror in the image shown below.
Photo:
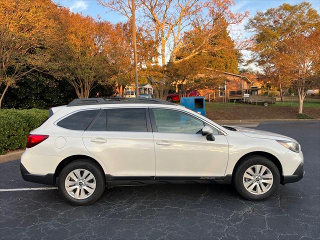
[[[155,176],[224,175],[228,162],[224,135],[214,135],[214,141],[206,140],[201,134],[153,132],[153,136]]]

